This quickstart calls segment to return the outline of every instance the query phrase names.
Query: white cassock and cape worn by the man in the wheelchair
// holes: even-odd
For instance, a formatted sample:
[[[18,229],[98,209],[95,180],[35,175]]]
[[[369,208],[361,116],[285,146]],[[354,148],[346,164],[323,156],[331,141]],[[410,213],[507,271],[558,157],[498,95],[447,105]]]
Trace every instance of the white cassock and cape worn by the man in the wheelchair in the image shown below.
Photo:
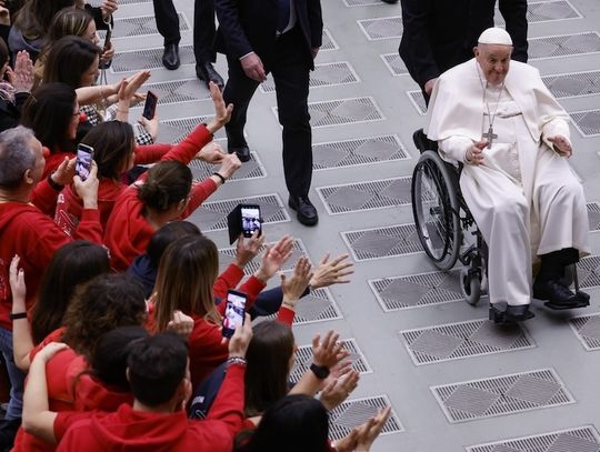
[[[490,118],[498,138],[483,149],[481,165],[464,164],[460,188],[489,248],[490,302],[528,304],[532,258],[563,248],[589,253],[586,199],[567,159],[547,141],[569,140],[569,117],[536,68],[511,61],[503,89],[487,86],[476,59],[450,69],[433,89],[426,132],[444,160],[464,162]]]

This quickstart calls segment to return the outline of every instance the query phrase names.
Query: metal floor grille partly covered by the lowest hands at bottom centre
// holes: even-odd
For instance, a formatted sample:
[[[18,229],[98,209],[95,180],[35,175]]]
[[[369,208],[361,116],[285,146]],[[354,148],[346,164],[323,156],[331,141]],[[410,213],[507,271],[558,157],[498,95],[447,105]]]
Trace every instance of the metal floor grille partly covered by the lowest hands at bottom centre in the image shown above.
[[[353,399],[342,402],[340,406],[329,412],[329,438],[341,440],[353,428],[363,424],[369,418],[377,414],[378,410],[390,405],[387,395],[378,395],[364,399]],[[383,425],[381,434],[399,433],[404,428],[392,410],[390,419]]]

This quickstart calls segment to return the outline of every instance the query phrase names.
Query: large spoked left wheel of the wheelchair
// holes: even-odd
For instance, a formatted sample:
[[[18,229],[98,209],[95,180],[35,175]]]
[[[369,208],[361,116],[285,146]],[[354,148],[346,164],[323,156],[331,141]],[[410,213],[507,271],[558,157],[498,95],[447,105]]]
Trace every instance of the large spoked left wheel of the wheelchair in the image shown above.
[[[412,214],[419,241],[440,270],[457,262],[462,231],[460,229],[457,180],[453,167],[436,152],[426,151],[412,173]]]

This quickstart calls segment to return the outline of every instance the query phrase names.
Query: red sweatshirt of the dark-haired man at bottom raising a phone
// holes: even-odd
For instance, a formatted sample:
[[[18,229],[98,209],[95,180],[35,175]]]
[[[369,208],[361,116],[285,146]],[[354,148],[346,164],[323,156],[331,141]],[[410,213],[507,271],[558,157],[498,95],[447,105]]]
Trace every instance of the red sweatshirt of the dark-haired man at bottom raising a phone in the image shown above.
[[[184,411],[148,413],[133,411],[129,405],[79,421],[69,413],[59,413],[54,420],[54,435],[60,440],[58,451],[231,452],[233,436],[243,420],[244,371],[244,366],[237,364],[228,368],[204,421],[189,420]]]

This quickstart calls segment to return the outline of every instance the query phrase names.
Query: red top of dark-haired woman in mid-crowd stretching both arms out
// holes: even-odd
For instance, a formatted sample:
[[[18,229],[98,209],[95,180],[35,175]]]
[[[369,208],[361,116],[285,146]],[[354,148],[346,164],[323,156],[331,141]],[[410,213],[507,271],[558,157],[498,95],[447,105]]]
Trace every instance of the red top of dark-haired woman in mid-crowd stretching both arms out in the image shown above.
[[[178,160],[188,164],[191,159],[212,140],[204,125],[198,125],[181,143],[174,145],[161,160]],[[142,254],[154,234],[154,228],[146,220],[144,204],[138,198],[138,184],[142,183],[147,173],[138,182],[129,185],[117,198],[109,217],[104,243],[110,250],[111,264],[117,271],[126,271],[133,260]],[[209,195],[217,190],[212,179],[196,183],[190,199],[180,218],[189,217]]]

